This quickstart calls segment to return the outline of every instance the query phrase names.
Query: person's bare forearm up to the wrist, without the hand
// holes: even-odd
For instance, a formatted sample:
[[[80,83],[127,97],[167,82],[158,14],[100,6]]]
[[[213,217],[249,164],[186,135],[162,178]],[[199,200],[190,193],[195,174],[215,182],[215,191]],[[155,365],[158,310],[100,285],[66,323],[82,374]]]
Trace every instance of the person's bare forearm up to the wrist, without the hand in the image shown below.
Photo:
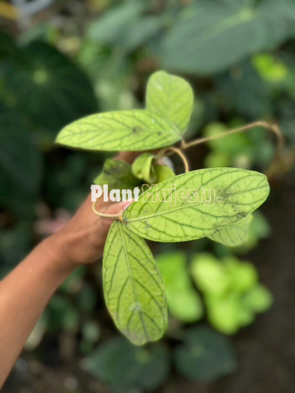
[[[53,235],[0,282],[0,387],[50,297],[73,268],[58,253]]]

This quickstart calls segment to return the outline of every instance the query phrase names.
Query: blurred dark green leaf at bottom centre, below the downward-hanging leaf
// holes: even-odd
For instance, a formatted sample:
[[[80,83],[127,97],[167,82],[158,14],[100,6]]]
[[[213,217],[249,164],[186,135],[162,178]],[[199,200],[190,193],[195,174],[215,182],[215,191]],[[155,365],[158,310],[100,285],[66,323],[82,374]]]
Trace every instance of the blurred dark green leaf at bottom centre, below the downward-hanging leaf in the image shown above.
[[[164,347],[138,348],[122,337],[100,345],[81,366],[113,393],[153,392],[165,382],[170,368]]]

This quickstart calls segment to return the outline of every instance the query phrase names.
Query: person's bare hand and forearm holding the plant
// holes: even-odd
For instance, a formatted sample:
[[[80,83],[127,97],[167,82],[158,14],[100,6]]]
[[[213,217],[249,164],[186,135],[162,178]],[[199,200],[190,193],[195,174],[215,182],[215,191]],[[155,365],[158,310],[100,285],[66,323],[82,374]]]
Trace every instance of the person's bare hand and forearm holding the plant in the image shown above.
[[[131,162],[134,157],[135,153],[120,153],[116,158]],[[130,203],[98,200],[96,209],[117,214]],[[93,213],[89,195],[64,227],[0,281],[0,388],[56,289],[79,265],[102,256],[112,221]]]

